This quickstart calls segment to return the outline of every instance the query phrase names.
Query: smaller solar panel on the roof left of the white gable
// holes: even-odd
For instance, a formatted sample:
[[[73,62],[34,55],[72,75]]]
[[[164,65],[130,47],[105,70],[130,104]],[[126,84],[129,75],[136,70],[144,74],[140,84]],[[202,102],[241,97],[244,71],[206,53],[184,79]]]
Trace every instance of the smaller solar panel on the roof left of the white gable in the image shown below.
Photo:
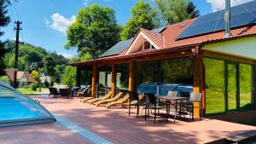
[[[122,51],[124,51],[129,46],[131,41],[132,39],[128,39],[128,40],[120,41],[119,43],[116,43],[112,48],[108,49],[100,57],[119,55]]]

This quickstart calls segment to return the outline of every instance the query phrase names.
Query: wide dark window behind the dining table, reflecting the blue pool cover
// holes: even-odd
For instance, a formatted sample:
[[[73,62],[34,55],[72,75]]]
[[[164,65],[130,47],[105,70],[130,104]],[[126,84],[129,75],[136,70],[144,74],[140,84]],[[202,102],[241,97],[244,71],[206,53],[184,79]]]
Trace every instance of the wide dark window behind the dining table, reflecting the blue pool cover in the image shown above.
[[[138,62],[135,86],[138,92],[153,92],[156,95],[167,95],[169,90],[177,90],[178,95],[192,92],[193,59]]]

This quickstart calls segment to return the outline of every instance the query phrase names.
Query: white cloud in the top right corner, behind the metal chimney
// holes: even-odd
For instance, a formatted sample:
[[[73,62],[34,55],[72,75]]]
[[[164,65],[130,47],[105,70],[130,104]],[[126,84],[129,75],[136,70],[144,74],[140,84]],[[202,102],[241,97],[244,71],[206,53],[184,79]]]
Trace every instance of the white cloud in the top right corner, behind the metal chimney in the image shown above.
[[[253,0],[230,0],[231,6],[236,6],[238,4],[247,3],[251,1]],[[225,8],[224,0],[207,0],[207,3],[210,3],[212,5],[212,11],[217,11]]]

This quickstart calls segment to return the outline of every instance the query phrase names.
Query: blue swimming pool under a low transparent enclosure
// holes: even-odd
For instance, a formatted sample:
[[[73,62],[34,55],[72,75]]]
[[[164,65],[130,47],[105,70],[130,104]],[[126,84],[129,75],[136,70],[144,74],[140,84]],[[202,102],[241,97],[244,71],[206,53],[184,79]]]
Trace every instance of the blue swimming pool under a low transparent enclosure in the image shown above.
[[[54,122],[38,102],[0,82],[0,126]]]

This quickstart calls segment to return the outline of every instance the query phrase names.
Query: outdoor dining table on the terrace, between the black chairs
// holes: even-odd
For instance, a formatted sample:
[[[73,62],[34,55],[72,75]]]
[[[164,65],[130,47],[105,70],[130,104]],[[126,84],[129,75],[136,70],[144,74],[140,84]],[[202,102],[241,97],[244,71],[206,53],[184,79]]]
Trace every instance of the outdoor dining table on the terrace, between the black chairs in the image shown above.
[[[171,108],[171,101],[175,101],[175,117],[174,117],[174,122],[175,122],[175,118],[177,117],[177,115],[179,115],[181,117],[182,115],[182,105],[183,105],[183,101],[187,100],[188,97],[171,97],[171,96],[166,96],[166,95],[156,95],[155,96],[157,99],[162,99],[162,100],[166,100],[166,105],[167,105],[167,113],[166,115],[168,116],[170,114],[170,108]],[[177,102],[179,101],[179,112],[177,112]],[[168,121],[168,117],[166,118],[166,121]]]

